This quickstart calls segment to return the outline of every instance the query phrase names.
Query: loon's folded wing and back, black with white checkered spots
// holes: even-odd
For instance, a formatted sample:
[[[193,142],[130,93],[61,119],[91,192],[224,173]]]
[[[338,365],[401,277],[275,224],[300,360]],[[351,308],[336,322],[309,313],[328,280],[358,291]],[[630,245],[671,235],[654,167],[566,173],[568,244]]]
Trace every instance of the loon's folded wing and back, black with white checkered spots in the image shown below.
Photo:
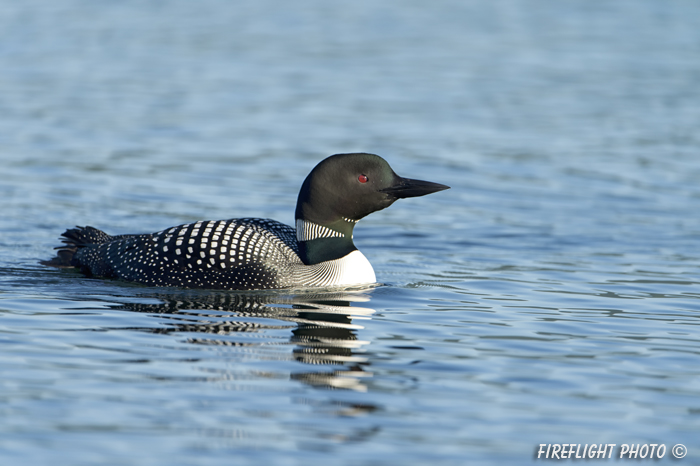
[[[64,248],[77,249],[71,264],[89,275],[145,285],[284,288],[293,284],[292,268],[301,264],[296,230],[269,219],[202,221],[143,235],[95,231],[99,234],[89,231],[80,240],[64,234]]]

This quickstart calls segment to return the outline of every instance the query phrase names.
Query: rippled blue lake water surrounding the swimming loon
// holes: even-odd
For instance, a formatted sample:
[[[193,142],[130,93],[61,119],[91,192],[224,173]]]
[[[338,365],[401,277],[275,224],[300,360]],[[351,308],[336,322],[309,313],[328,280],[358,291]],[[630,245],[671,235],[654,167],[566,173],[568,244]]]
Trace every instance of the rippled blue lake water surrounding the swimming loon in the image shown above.
[[[697,462],[699,126],[699,2],[0,1],[0,459]],[[76,224],[292,223],[350,151],[452,186],[356,228],[382,287],[37,264]]]

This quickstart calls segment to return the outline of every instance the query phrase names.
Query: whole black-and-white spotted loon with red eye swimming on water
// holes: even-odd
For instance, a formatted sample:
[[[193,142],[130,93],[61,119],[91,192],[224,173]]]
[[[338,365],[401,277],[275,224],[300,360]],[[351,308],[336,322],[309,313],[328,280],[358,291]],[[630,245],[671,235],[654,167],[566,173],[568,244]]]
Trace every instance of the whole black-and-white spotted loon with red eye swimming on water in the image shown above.
[[[449,189],[398,176],[378,155],[336,154],[299,191],[296,228],[270,219],[199,221],[151,234],[110,236],[76,227],[44,265],[150,286],[262,290],[372,284],[372,265],[353,243],[363,217],[397,199]]]

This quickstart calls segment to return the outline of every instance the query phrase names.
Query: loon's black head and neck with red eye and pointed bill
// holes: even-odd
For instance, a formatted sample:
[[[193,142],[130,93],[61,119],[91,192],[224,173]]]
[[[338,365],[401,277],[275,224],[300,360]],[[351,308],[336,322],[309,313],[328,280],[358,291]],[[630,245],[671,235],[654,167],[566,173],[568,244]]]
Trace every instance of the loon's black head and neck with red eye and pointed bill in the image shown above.
[[[449,189],[439,183],[402,178],[374,154],[331,155],[306,177],[295,218],[304,262],[330,260],[355,250],[355,223],[398,199]]]

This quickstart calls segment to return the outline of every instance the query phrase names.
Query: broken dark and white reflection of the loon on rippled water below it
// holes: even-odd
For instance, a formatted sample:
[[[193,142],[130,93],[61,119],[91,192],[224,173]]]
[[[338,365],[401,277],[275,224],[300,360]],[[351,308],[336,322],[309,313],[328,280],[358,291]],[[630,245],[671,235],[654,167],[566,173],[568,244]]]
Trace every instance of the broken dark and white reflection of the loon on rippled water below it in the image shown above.
[[[369,342],[359,340],[356,331],[363,328],[358,321],[369,320],[375,311],[351,306],[369,301],[366,291],[283,295],[167,290],[140,296],[160,303],[125,303],[111,307],[158,314],[167,320],[164,327],[140,330],[201,334],[187,339],[192,344],[249,346],[253,343],[238,341],[236,335],[288,328],[289,325],[279,322],[292,322],[296,326],[289,341],[295,345],[294,358],[305,365],[324,366],[325,369],[295,372],[291,375],[293,380],[318,388],[367,391],[365,382],[372,373],[367,370],[369,363],[361,348]],[[327,370],[328,365],[338,368]],[[376,408],[358,405],[345,409],[368,412]]]

